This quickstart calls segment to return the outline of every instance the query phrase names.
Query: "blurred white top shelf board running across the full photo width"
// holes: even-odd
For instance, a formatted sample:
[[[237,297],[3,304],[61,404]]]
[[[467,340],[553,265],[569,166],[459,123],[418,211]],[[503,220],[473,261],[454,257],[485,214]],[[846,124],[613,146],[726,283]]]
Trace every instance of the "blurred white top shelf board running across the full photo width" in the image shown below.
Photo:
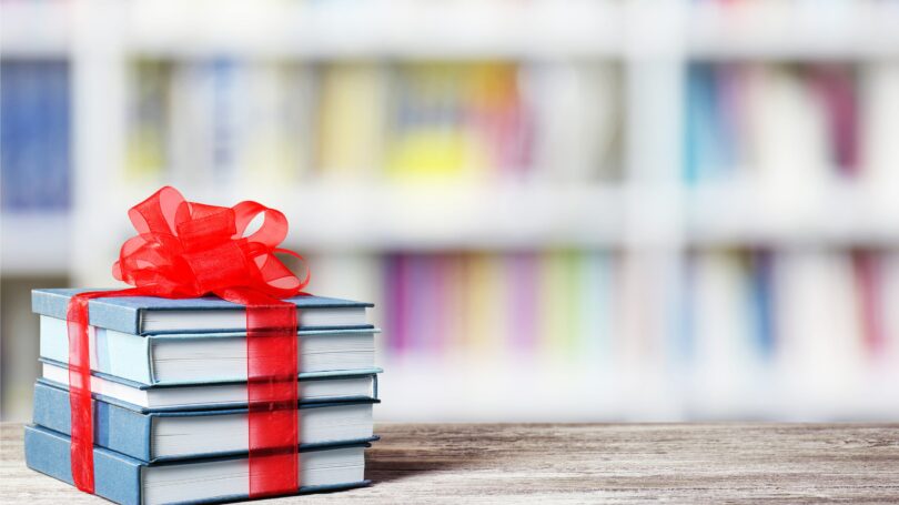
[[[0,53],[65,57],[74,13],[82,3],[4,3]],[[223,54],[313,60],[630,58],[640,52],[630,46],[640,42],[635,42],[628,27],[648,17],[659,28],[678,30],[676,38],[683,39],[686,54],[694,58],[899,55],[895,29],[899,8],[890,2],[782,2],[730,9],[704,2],[660,13],[614,0],[525,4],[131,0],[91,6],[91,10],[119,20],[120,43],[127,52],[175,59]],[[686,20],[683,26],[680,18]]]

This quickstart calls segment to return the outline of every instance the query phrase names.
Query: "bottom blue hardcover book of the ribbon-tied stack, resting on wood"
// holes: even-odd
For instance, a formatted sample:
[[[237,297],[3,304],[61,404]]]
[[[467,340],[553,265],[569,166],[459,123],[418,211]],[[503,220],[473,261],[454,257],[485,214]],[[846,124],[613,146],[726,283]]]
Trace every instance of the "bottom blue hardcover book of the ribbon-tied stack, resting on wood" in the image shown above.
[[[68,436],[26,426],[28,467],[72,484]],[[366,486],[367,443],[301,448],[301,487],[314,493]],[[145,463],[94,447],[95,493],[120,504],[205,503],[249,497],[246,456]]]

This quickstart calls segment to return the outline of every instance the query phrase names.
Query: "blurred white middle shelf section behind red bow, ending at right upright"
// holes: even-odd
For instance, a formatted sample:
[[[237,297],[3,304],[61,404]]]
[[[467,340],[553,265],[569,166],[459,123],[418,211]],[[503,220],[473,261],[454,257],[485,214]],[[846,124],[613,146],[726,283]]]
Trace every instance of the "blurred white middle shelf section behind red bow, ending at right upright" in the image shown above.
[[[150,189],[121,192],[124,210]],[[188,199],[256,200],[284,212],[302,251],[615,246],[624,198],[615,185],[316,183],[291,190],[183,189]],[[235,194],[231,194],[235,193]]]

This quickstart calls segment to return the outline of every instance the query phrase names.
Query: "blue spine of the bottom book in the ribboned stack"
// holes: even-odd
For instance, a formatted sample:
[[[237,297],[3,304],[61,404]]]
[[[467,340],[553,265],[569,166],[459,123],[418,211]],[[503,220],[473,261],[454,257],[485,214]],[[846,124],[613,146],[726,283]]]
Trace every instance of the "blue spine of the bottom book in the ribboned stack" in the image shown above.
[[[29,468],[72,485],[69,437],[39,426],[26,426]],[[122,505],[141,504],[141,463],[102,448],[93,451],[94,493]]]

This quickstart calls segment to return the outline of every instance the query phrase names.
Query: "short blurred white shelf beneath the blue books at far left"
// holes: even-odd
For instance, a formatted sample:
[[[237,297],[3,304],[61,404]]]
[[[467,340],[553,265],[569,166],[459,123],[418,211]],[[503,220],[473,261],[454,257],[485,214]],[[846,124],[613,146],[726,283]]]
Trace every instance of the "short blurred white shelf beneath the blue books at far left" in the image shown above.
[[[65,214],[14,214],[0,219],[3,275],[65,275],[70,271],[71,220]]]

